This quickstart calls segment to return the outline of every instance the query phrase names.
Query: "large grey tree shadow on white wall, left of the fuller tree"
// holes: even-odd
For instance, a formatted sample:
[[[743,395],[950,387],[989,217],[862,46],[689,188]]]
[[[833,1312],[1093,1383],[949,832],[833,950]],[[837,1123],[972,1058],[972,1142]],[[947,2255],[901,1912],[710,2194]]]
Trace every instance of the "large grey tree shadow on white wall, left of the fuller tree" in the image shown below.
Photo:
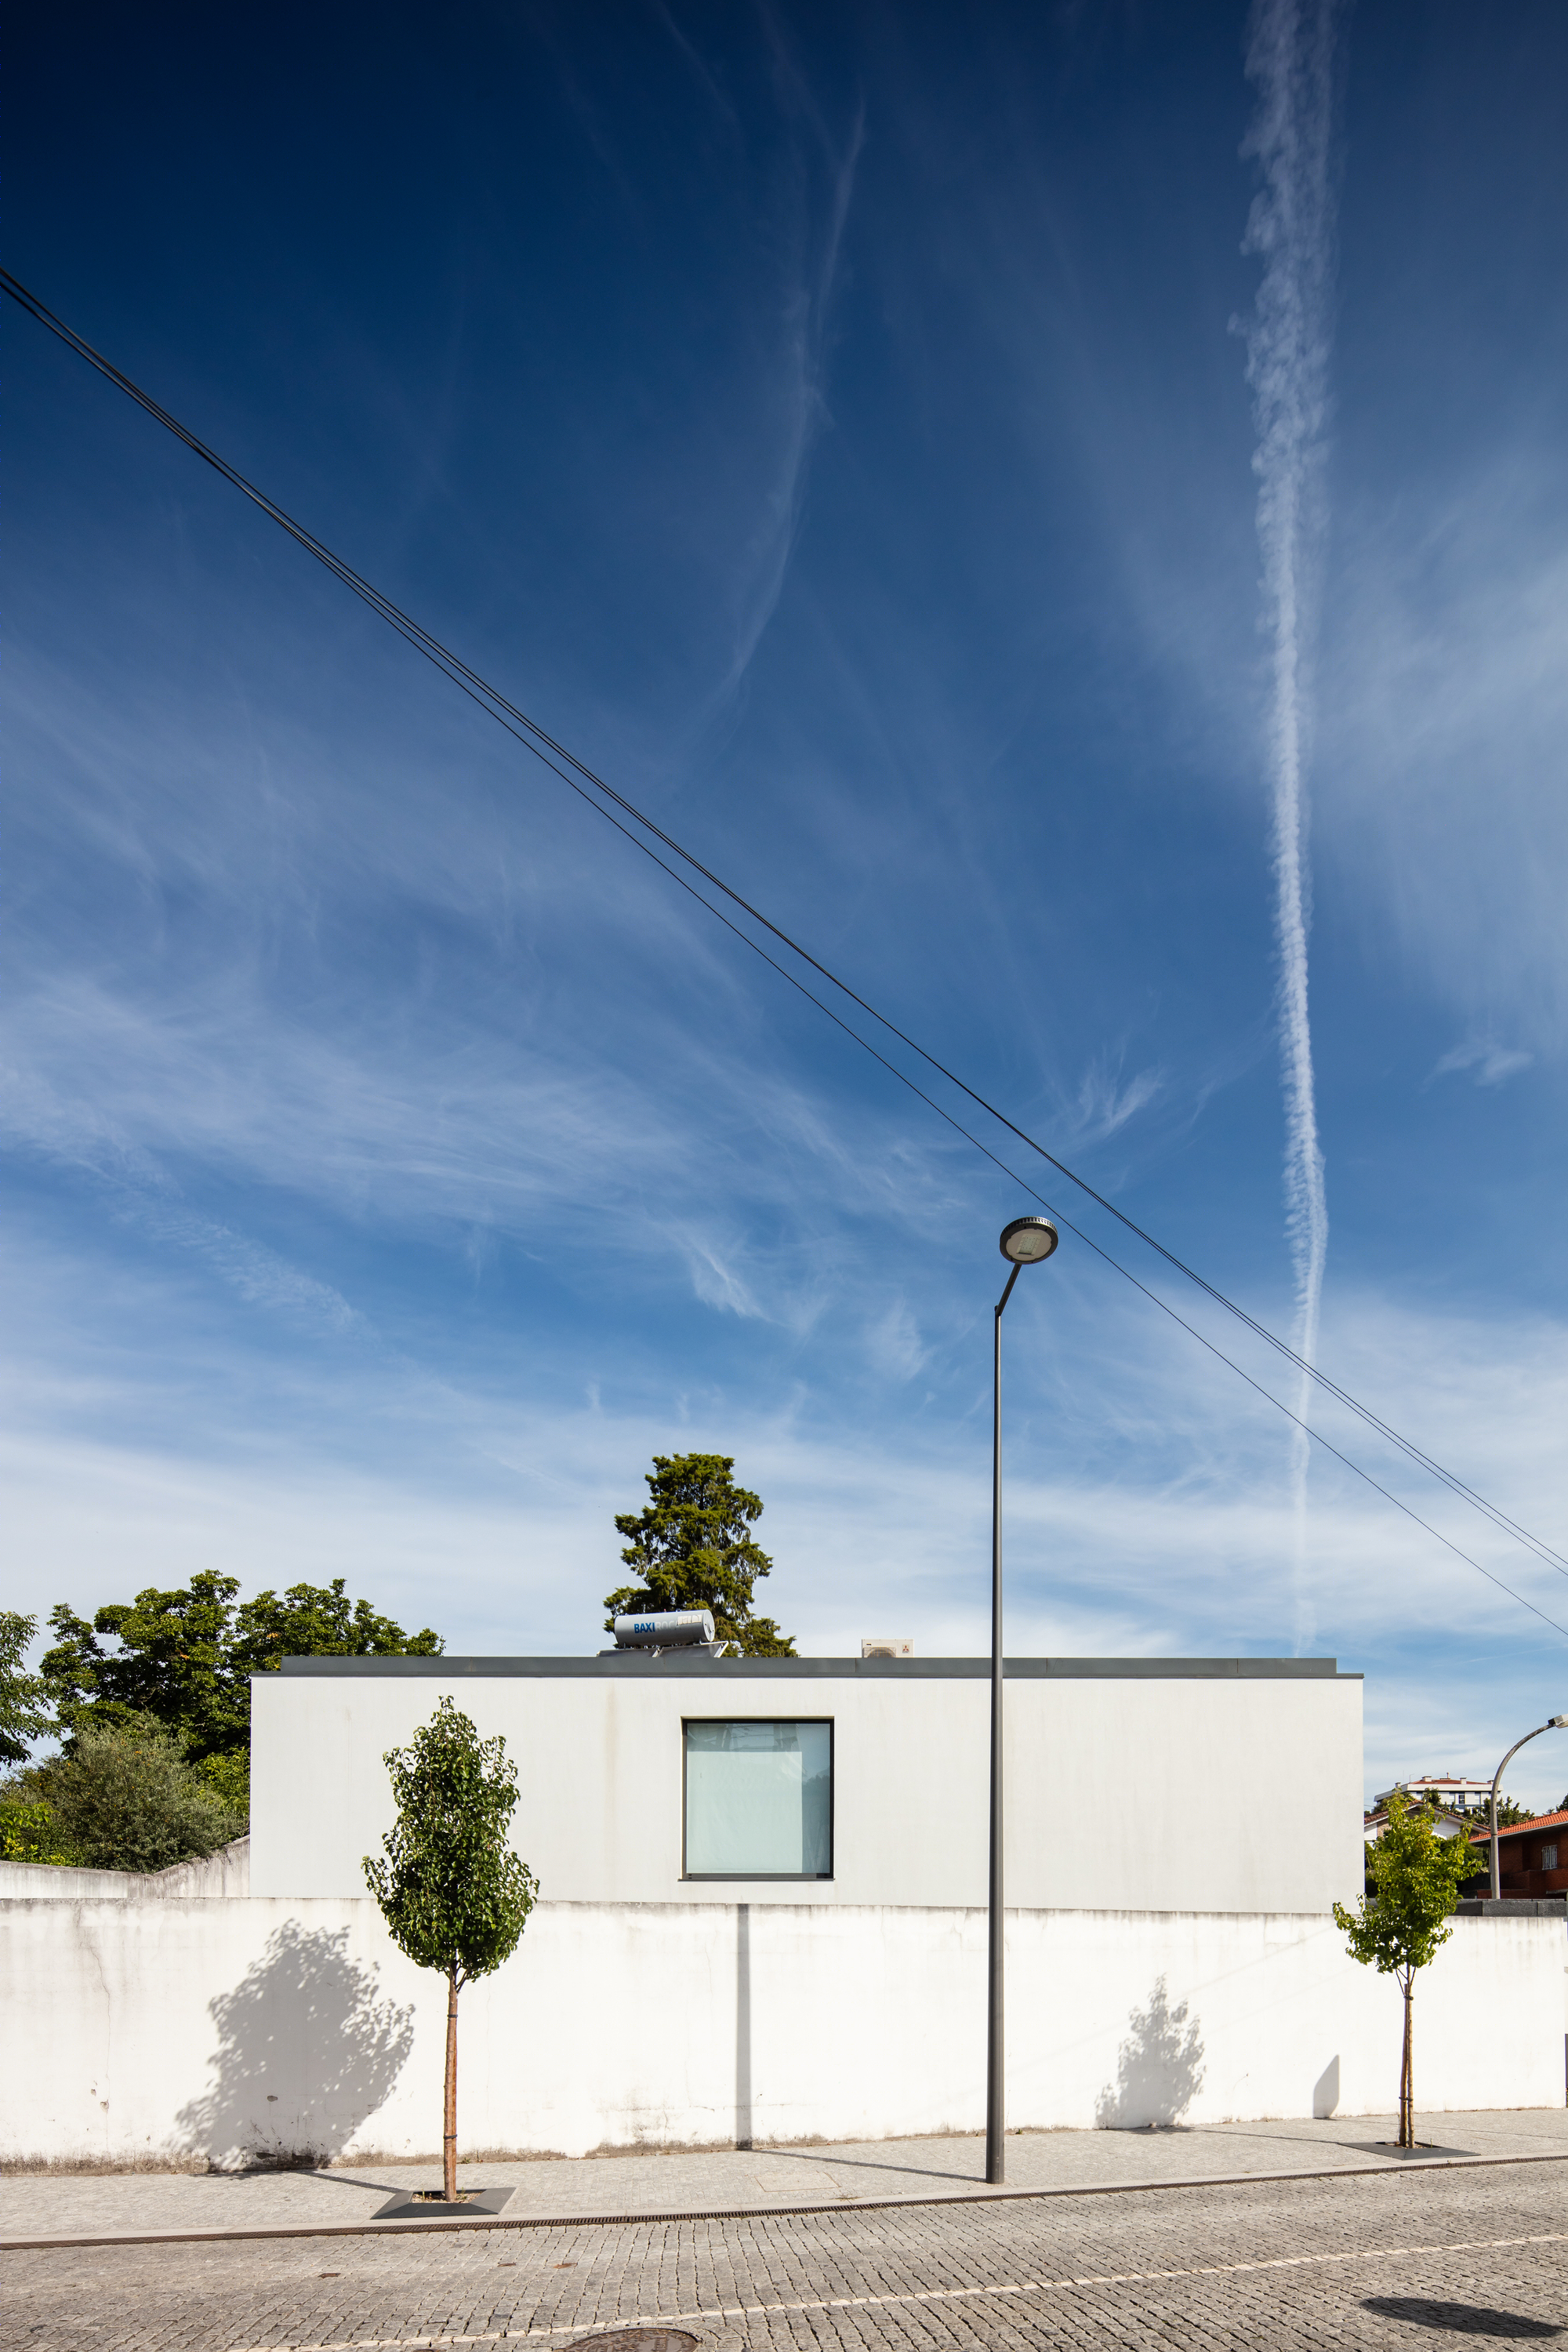
[[[348,1929],[284,1919],[212,2002],[214,2082],[179,2112],[219,2171],[324,2164],[381,2107],[414,2049],[414,2009],[378,1997]]]

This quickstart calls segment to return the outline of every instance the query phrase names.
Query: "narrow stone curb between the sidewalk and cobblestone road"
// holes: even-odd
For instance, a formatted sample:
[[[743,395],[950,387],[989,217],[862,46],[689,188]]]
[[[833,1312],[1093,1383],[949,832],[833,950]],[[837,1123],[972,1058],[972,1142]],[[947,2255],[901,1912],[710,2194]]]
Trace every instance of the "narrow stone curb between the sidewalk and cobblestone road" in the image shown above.
[[[301,2220],[256,2230],[101,2230],[52,2237],[0,2237],[0,2253],[47,2253],[68,2246],[212,2246],[282,2237],[433,2237],[475,2230],[614,2230],[672,2220],[788,2220],[806,2213],[900,2213],[950,2204],[1044,2204],[1051,2197],[1147,2197],[1159,2190],[1246,2190],[1272,2180],[1387,2180],[1389,2173],[1469,2173],[1500,2164],[1568,2164],[1568,2147],[1544,2157],[1375,2157],[1300,2173],[1192,2173],[1187,2180],[1091,2180],[1044,2190],[943,2190],[933,2197],[844,2197],[835,2204],[677,2206],[658,2213],[484,2213],[475,2220]]]

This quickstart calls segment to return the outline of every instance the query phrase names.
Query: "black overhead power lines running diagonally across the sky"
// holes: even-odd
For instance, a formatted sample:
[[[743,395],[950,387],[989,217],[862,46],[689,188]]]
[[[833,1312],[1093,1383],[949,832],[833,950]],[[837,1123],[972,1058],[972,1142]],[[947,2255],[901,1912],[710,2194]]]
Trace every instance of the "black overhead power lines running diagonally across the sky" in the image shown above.
[[[1131,1235],[1135,1235],[1135,1240],[1140,1240],[1147,1249],[1152,1249],[1159,1258],[1164,1258],[1173,1272],[1192,1282],[1199,1291],[1204,1291],[1206,1298],[1220,1305],[1227,1315],[1234,1315],[1237,1322],[1241,1322],[1260,1341],[1274,1348],[1288,1364],[1293,1364],[1309,1381],[1314,1381],[1328,1397],[1333,1397],[1347,1411],[1356,1414],[1387,1444],[1396,1446],[1420,1470],[1439,1479],[1439,1484],[1443,1484],[1453,1496],[1479,1510],[1500,1534],[1512,1536],[1528,1552],[1533,1552],[1535,1559],[1554,1569],[1559,1576],[1568,1576],[1568,1557],[1563,1557],[1540,1536],[1533,1536],[1526,1526],[1521,1526],[1505,1510],[1500,1510],[1495,1503],[1481,1496],[1474,1486],[1460,1479],[1432,1454],[1427,1454],[1413,1439],[1394,1430],[1368,1404],[1361,1404],[1361,1399],[1354,1397],[1347,1388],[1333,1381],[1316,1364],[1307,1362],[1307,1357],[1298,1355],[1298,1350],[1291,1348],[1288,1341],[1279,1338],[1276,1331],[1269,1331],[1267,1324],[1262,1324],[1255,1315],[1248,1315],[1248,1310],[1241,1308],[1234,1298],[1227,1298],[1227,1294],[1218,1289],[1218,1284],[1208,1282],[1201,1272],[1197,1272],[1197,1268],[1187,1265],[1187,1261],[1180,1258],[1173,1249],[1166,1249],[1164,1242],[1159,1242],[1135,1218],[1131,1218],[1112,1200],[1098,1192],[1084,1176],[1079,1176],[1072,1167],[1067,1167],[1065,1160],[1058,1160],[1058,1155],[1051,1152],[1044,1143],[1039,1143],[1037,1136],[1018,1127],[1016,1120],[1011,1120],[976,1087],[971,1087],[964,1077],[959,1077],[957,1070],[947,1068],[947,1063],[943,1063],[936,1054],[931,1054],[924,1044],[919,1044],[917,1037],[898,1028],[898,1023],[891,1021],[886,1014],[882,1014],[867,997],[858,995],[858,990],[853,990],[849,981],[842,981],[837,971],[832,971],[816,955],[811,955],[809,948],[802,948],[802,943],[792,938],[769,915],[764,915],[762,908],[752,906],[750,898],[743,898],[741,891],[731,889],[731,884],[724,882],[722,875],[717,875],[710,866],[705,866],[698,856],[693,856],[682,842],[675,840],[675,835],[665,833],[663,826],[658,826],[651,816],[646,816],[632,800],[625,797],[625,793],[618,793],[616,786],[609,783],[604,776],[599,776],[592,767],[588,767],[588,762],[578,760],[576,753],[569,746],[559,743],[552,734],[548,734],[548,729],[541,727],[538,720],[531,720],[527,710],[520,710],[517,703],[508,701],[508,696],[501,694],[498,687],[491,687],[489,680],[482,677],[475,668],[470,668],[458,654],[454,654],[451,647],[442,644],[442,640],[430,635],[430,630],[423,628],[411,614],[402,612],[402,607],[395,604],[388,595],[383,595],[381,588],[374,586],[374,581],[367,581],[322,539],[317,539],[301,522],[296,522],[294,515],[289,515],[282,506],[277,506],[275,499],[268,499],[268,494],[259,489],[254,482],[249,482],[237,466],[230,466],[226,456],[221,456],[205,440],[190,433],[190,428],[183,426],[179,416],[172,416],[169,409],[160,407],[160,402],[153,400],[153,395],[146,393],[132,376],[127,376],[125,369],[115,367],[113,360],[106,360],[101,350],[96,350],[82,334],[78,334],[75,327],[66,325],[66,320],[61,320],[54,310],[49,310],[47,303],[42,303],[33,292],[28,292],[28,287],[24,287],[21,280],[14,278],[12,270],[2,266],[0,266],[0,292],[9,294],[12,301],[19,303],[19,308],[24,308],[31,318],[38,320],[40,327],[47,327],[49,334],[59,336],[59,341],[66,343],[71,350],[75,350],[78,358],[87,360],[89,367],[94,367],[101,376],[115,383],[129,400],[136,402],[136,407],[146,409],[146,414],[153,416],[160,426],[165,426],[165,430],[172,433],[176,440],[181,440],[193,456],[200,456],[202,463],[212,466],[214,473],[223,475],[223,480],[230,482],[233,489],[237,489],[244,499],[249,499],[252,506],[259,506],[263,515],[268,515],[282,532],[287,532],[289,539],[294,539],[308,555],[313,555],[320,564],[324,564],[324,569],[331,572],[334,579],[339,579],[353,595],[357,595],[360,602],[369,604],[369,609],[378,614],[388,623],[388,628],[395,628],[400,637],[404,637],[418,654],[423,654],[423,659],[430,661],[444,677],[449,677],[451,684],[461,687],[461,691],[468,694],[468,699],[475,701],[491,720],[496,720],[496,724],[501,724],[517,743],[522,743],[524,750],[534,753],[534,757],[541,760],[552,776],[567,783],[578,795],[578,800],[592,807],[616,828],[616,833],[621,833],[628,842],[632,842],[649,858],[654,858],[654,863],[665,875],[670,875],[670,880],[679,882],[682,889],[686,889],[701,906],[705,906],[710,915],[715,915],[729,931],[736,934],[736,938],[741,938],[748,948],[762,955],[762,960],[785,981],[790,981],[792,988],[797,988],[804,997],[809,997],[811,1004],[818,1007],[818,1011],[825,1011],[827,1018],[837,1023],[837,1028],[842,1028],[849,1037],[853,1037],[856,1044],[860,1044],[867,1054],[872,1054],[872,1058],[879,1061],[884,1070],[889,1070],[900,1084],[905,1084],[912,1094],[917,1094],[922,1103],[936,1110],[938,1117],[943,1117],[976,1150],[985,1152],[985,1157],[992,1160],[994,1167],[1004,1169],[1004,1174],[1013,1183],[1018,1183],[1034,1200],[1044,1200],[1044,1195],[1039,1195],[1034,1185],[1030,1185],[1023,1176],[1018,1176],[1016,1169],[1006,1167],[1006,1162],[999,1160],[997,1152],[990,1150],[990,1145],[985,1145],[971,1129],[966,1129],[959,1120],[954,1120],[952,1112],[947,1112],[933,1096],[929,1096],[922,1087],[917,1087],[914,1080],[898,1068],[898,1063],[889,1061],[886,1054],[877,1051],[877,1047],[870,1044],[870,1040],[863,1037],[860,1030],[856,1030],[849,1021],[844,1021],[837,1011],[832,1011],[832,1007],[825,1004],[823,997],[818,997],[811,988],[806,988],[799,974],[790,971],[773,955],[769,955],[759,946],[759,941],[755,941],[738,922],[724,915],[722,908],[712,906],[712,901],[701,889],[696,889],[686,880],[686,875],[677,873],[675,866],[661,858],[658,851],[649,847],[649,840],[644,840],[644,835],[651,837],[654,842],[661,842],[672,858],[677,858],[682,866],[689,868],[689,873],[701,875],[703,882],[708,882],[731,906],[736,906],[743,915],[748,915],[750,922],[759,924],[771,938],[776,938],[783,948],[788,948],[790,955],[799,957],[802,964],[806,964],[823,981],[827,981],[827,985],[835,988],[849,1004],[856,1004],[870,1021],[875,1021],[882,1030],[886,1030],[889,1037],[896,1037],[903,1047],[917,1054],[919,1061],[926,1063],[926,1068],[936,1070],[943,1080],[947,1080],[947,1084],[957,1087],[959,1094],[964,1094],[971,1103],[976,1103],[978,1110],[985,1110],[987,1117],[997,1120],[997,1124],[1004,1127],[1018,1143],[1037,1152],[1048,1167],[1053,1167],[1060,1176],[1065,1176],[1067,1183],[1077,1185],[1077,1190],[1084,1192],[1086,1200],[1091,1200],[1098,1209],[1105,1209],[1107,1216],[1112,1216],[1119,1225],[1124,1225]],[[614,809],[621,809],[623,816],[630,818],[630,823],[623,823],[618,816],[614,816],[611,814]],[[1056,1209],[1051,1214],[1060,1216],[1060,1211]],[[1300,1421],[1300,1416],[1293,1414],[1279,1397],[1274,1397],[1272,1390],[1262,1388],[1260,1381],[1253,1381],[1248,1371],[1244,1371],[1232,1357],[1227,1357],[1220,1348],[1215,1348],[1213,1341],[1208,1341],[1194,1324],[1190,1324],[1182,1315],[1178,1315],[1175,1308],[1168,1305],[1168,1301],[1164,1301],[1157,1291],[1143,1284],[1126,1265],[1121,1265],[1119,1258],[1112,1258],[1110,1251],[1105,1251],[1098,1242],[1093,1242],[1079,1225],[1074,1225],[1065,1216],[1060,1221],[1067,1225],[1070,1232],[1074,1232],[1081,1242],[1086,1242],[1086,1247],[1093,1249],[1095,1256],[1100,1256],[1107,1265],[1112,1265],[1119,1275],[1124,1275],[1124,1279],[1131,1282],[1138,1291],[1143,1291],[1145,1298],[1152,1298],[1157,1308],[1171,1315],[1173,1322],[1178,1322],[1185,1331],[1190,1331],[1192,1338],[1197,1338],[1204,1348],[1208,1348],[1211,1355],[1215,1355],[1239,1378],[1244,1378],[1248,1388],[1258,1390],[1258,1395],[1267,1397],[1267,1402],[1274,1404],[1276,1411],[1286,1414],[1288,1421],[1307,1430],[1307,1435],[1314,1437],[1316,1444],[1321,1444],[1328,1454],[1333,1454],[1335,1461],[1354,1470],[1356,1477],[1366,1479],[1366,1484],[1373,1486],[1389,1503],[1394,1503],[1396,1510],[1403,1510],[1406,1517],[1415,1519],[1415,1524],[1427,1529],[1429,1536],[1436,1536],[1436,1541],[1443,1543],[1450,1552],[1465,1559],[1490,1583],[1500,1585],[1500,1590],[1507,1592],[1512,1599],[1516,1599],[1523,1609],[1530,1609],[1537,1618],[1542,1618],[1542,1623],[1552,1625],[1554,1632],[1563,1632],[1568,1637],[1568,1628],[1559,1625],[1556,1618],[1544,1616],[1542,1609],[1535,1609],[1533,1602],[1523,1599],[1521,1592],[1514,1592],[1512,1585],[1505,1585],[1502,1578],[1493,1576],[1493,1571],[1481,1566],[1479,1559],[1472,1559],[1469,1552],[1462,1552],[1455,1543],[1448,1541],[1448,1536],[1443,1536],[1427,1519],[1422,1519],[1406,1503],[1401,1503],[1399,1496],[1394,1496],[1387,1486],[1382,1486],[1375,1477],[1371,1477],[1371,1472],[1361,1470],[1361,1465],[1354,1463],[1347,1454],[1340,1454],[1340,1449],[1331,1444],[1321,1430],[1314,1430],[1309,1423]]]

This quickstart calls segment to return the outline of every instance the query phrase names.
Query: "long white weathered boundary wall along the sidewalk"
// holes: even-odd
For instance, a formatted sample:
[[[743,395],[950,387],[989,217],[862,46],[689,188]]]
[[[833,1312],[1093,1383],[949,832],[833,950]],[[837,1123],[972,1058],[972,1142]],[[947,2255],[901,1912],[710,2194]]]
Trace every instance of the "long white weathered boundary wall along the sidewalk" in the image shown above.
[[[1561,2107],[1568,1936],[1455,1919],[1415,2093]],[[0,1903],[0,2154],[423,2154],[444,1983],[360,1900]],[[1387,2114],[1399,1990],[1312,1915],[1011,1912],[1009,2122]],[[543,1903],[463,1994],[470,2150],[978,2131],[985,1912]]]

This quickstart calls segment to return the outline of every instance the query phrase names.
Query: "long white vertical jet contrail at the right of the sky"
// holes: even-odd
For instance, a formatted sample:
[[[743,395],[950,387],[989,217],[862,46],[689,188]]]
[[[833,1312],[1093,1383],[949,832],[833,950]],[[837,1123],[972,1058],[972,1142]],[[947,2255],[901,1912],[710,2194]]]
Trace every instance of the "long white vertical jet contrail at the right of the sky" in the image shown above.
[[[1307,1011],[1305,762],[1314,586],[1324,522],[1328,412],[1328,296],[1333,282],[1333,38],[1338,0],[1258,0],[1246,73],[1258,111],[1241,148],[1262,188],[1244,252],[1262,256],[1258,306],[1246,325],[1246,381],[1258,421],[1258,546],[1262,626],[1269,637],[1269,783],[1274,795],[1274,934],[1279,943],[1279,1056],[1286,1096],[1286,1235],[1295,1265],[1295,1350],[1316,1362],[1328,1202],[1312,1084]],[[1298,1414],[1309,1378],[1302,1374]],[[1314,1637],[1307,1578],[1307,1437],[1291,1435],[1295,1515],[1295,1646]]]

